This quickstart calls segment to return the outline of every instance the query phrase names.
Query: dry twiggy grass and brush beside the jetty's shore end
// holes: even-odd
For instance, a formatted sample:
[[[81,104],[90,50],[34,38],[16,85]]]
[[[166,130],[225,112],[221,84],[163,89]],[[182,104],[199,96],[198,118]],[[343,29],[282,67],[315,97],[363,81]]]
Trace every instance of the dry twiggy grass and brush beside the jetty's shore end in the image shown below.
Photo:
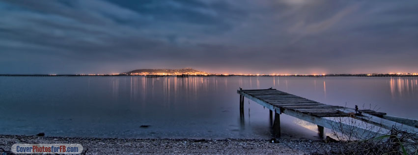
[[[345,143],[340,150],[342,155],[418,155],[418,133],[408,133],[397,128],[387,130],[350,117],[334,118],[334,121],[353,126],[342,133],[337,132],[342,130],[342,125],[333,128],[337,139]],[[380,133],[387,131],[387,134],[381,136],[374,132],[359,132],[358,127]]]

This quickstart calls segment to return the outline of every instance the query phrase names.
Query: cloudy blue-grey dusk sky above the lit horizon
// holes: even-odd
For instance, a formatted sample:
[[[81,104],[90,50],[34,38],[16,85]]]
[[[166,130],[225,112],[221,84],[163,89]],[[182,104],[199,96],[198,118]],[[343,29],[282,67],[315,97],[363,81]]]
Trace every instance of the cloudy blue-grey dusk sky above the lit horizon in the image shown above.
[[[418,72],[418,0],[0,0],[0,74]]]

